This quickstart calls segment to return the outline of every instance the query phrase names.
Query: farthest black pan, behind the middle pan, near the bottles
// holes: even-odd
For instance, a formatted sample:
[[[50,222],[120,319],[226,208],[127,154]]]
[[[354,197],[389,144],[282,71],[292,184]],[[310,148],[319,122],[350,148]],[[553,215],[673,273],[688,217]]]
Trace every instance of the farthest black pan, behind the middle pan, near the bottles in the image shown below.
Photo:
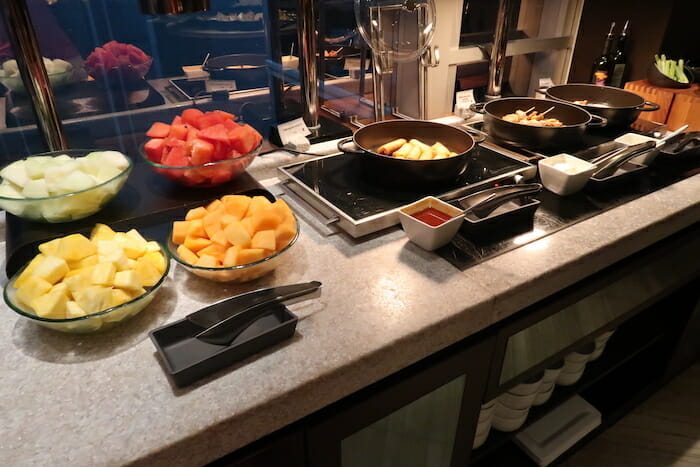
[[[588,101],[588,104],[574,104],[587,112],[608,120],[609,127],[624,128],[631,125],[641,112],[659,110],[659,105],[647,102],[643,97],[629,91],[595,84],[562,84],[545,91],[549,99],[574,103]]]

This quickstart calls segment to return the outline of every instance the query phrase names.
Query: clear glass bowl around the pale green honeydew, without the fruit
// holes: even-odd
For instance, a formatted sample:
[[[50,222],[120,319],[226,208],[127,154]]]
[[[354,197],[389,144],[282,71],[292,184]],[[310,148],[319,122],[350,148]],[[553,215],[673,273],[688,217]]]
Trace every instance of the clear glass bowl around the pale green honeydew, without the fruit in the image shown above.
[[[59,156],[61,154],[67,154],[71,157],[84,157],[96,151],[99,150],[67,149],[36,154],[27,159],[38,156]],[[119,175],[93,187],[45,198],[8,198],[0,196],[0,208],[17,217],[36,222],[61,223],[83,219],[102,209],[122,189],[134,166],[129,157],[126,157],[126,160],[129,162],[129,166]]]

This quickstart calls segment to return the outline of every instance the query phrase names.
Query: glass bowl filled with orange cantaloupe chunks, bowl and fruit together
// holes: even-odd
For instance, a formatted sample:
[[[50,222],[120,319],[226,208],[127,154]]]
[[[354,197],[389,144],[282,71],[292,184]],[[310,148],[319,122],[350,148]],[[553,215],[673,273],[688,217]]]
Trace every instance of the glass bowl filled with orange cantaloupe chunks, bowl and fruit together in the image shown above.
[[[170,255],[199,277],[247,282],[275,269],[299,237],[299,223],[282,199],[226,195],[175,221]]]

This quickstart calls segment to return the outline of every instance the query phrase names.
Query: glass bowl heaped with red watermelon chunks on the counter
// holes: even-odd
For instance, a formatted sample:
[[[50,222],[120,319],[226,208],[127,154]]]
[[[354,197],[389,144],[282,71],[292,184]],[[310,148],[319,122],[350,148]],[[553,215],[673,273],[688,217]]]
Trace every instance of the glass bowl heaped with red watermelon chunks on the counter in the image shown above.
[[[234,118],[221,110],[186,109],[170,124],[154,123],[141,154],[154,171],[173,182],[221,185],[243,173],[262,147],[260,133]]]

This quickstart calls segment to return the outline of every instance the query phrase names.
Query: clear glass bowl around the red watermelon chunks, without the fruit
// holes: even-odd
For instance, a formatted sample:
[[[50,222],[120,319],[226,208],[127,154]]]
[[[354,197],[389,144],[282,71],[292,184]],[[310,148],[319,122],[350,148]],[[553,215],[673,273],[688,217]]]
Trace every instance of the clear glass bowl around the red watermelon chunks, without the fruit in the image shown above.
[[[226,183],[245,172],[253,159],[262,148],[262,141],[248,154],[238,155],[231,159],[223,159],[201,165],[171,167],[153,162],[146,157],[146,151],[141,147],[139,153],[148,165],[158,174],[168,180],[190,187],[213,187]]]

